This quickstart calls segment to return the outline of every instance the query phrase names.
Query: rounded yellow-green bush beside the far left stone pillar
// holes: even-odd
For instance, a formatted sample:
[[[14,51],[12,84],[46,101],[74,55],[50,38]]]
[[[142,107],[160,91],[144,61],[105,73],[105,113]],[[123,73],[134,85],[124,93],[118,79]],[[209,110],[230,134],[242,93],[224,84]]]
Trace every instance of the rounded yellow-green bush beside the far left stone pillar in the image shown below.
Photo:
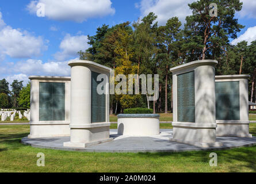
[[[20,91],[18,98],[18,105],[22,108],[29,109],[30,108],[30,83],[23,87]]]

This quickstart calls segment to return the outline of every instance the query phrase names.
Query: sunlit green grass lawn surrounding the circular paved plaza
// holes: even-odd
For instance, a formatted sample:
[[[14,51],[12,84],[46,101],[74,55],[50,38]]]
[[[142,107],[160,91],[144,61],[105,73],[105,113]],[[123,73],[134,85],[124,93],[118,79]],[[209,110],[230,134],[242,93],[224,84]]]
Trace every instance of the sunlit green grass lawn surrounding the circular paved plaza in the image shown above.
[[[250,125],[250,133],[256,136],[256,124]],[[218,166],[210,167],[212,151],[154,154],[58,151],[21,144],[21,138],[28,134],[28,125],[0,126],[0,172],[256,172],[256,147],[214,151]],[[45,154],[45,167],[36,165],[39,152]]]

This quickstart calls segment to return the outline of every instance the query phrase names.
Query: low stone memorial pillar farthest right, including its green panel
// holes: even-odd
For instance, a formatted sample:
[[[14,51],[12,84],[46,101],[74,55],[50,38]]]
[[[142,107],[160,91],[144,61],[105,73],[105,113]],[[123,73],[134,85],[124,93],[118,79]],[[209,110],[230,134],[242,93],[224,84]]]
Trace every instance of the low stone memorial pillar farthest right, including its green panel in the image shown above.
[[[250,75],[216,76],[217,136],[252,137],[249,133]]]

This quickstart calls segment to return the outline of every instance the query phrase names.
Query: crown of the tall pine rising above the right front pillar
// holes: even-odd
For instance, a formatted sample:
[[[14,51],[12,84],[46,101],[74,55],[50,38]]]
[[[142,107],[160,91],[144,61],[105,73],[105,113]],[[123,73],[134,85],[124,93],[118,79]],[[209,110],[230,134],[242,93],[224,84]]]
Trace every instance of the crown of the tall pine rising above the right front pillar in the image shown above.
[[[217,17],[209,15],[211,3],[217,4]],[[234,18],[242,4],[239,0],[200,0],[188,5],[192,16],[186,17],[184,30],[190,52],[195,55],[192,60],[196,55],[198,59],[214,59],[229,43],[228,39],[236,39],[237,33],[244,28]]]

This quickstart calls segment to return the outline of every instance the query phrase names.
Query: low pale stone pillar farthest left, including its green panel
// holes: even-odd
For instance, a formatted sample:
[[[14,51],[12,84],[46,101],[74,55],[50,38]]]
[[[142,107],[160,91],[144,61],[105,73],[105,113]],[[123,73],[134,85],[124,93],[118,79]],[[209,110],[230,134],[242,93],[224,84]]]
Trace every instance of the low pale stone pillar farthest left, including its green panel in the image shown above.
[[[70,77],[30,76],[30,135],[29,138],[70,136]],[[62,105],[58,101],[59,92],[47,94],[45,86],[63,86]],[[55,108],[53,108],[55,106]],[[60,107],[61,106],[61,107]],[[60,110],[61,109],[61,110]],[[60,111],[61,114],[60,114]],[[58,118],[58,116],[62,118]],[[22,114],[19,112],[19,117]]]

